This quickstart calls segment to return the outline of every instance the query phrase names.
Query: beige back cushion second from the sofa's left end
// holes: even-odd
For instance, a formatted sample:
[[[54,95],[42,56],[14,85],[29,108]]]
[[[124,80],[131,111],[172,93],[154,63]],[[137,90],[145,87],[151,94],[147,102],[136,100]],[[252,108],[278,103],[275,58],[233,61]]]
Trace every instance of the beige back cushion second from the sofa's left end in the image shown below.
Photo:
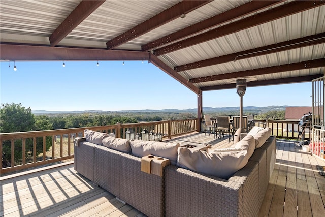
[[[109,135],[103,136],[103,145],[124,153],[131,153],[130,141],[127,139],[115,138]]]

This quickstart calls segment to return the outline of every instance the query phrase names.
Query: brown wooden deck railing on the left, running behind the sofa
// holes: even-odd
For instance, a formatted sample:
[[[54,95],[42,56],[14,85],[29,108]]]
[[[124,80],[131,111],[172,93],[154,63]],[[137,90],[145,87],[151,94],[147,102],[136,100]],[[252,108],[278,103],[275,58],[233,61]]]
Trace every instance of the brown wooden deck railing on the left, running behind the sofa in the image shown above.
[[[1,133],[0,139],[0,173],[23,170],[45,165],[74,157],[74,138],[83,136],[85,129],[111,133],[116,137],[125,138],[127,129],[135,133],[143,129],[153,130],[163,135],[163,138],[198,131],[198,118],[185,120],[164,120],[140,123],[117,123],[110,126],[86,128],[70,128],[47,131],[29,131],[18,133]],[[38,154],[40,153],[40,154]],[[16,159],[16,160],[15,160]],[[19,159],[19,160],[17,160]]]

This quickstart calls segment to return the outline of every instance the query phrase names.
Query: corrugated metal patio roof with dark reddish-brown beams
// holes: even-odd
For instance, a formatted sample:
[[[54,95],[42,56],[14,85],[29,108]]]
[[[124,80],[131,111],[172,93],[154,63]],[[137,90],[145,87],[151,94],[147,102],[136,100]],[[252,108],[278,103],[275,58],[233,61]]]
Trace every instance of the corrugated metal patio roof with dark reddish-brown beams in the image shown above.
[[[0,1],[0,60],[144,60],[202,91],[325,71],[325,1]]]

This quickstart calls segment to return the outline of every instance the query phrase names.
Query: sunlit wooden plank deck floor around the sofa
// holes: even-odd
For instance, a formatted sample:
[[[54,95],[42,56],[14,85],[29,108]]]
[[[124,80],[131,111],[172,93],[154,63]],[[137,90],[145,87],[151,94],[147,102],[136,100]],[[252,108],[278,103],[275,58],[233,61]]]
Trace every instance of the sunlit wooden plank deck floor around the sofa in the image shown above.
[[[173,139],[228,147],[228,138],[193,133]],[[324,216],[325,161],[277,140],[276,165],[259,216]],[[0,216],[144,216],[74,171],[73,164],[0,177]],[[30,173],[32,172],[32,173]]]

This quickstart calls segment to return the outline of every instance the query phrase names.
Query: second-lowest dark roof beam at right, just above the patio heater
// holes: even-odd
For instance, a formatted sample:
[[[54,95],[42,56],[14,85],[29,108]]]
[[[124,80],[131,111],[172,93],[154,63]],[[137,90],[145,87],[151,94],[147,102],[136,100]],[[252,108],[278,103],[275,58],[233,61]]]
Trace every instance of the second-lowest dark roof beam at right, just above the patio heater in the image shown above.
[[[285,64],[280,66],[272,66],[266,68],[245,70],[239,72],[225,73],[220,75],[212,75],[201,78],[192,78],[189,81],[191,83],[202,83],[208,81],[218,81],[224,79],[232,79],[232,78],[241,78],[241,77],[250,77],[256,75],[265,75],[265,74],[273,74],[278,72],[287,72],[301,69],[311,69],[325,66],[325,58],[315,59],[310,61],[304,61],[301,63],[293,63],[293,64]]]

